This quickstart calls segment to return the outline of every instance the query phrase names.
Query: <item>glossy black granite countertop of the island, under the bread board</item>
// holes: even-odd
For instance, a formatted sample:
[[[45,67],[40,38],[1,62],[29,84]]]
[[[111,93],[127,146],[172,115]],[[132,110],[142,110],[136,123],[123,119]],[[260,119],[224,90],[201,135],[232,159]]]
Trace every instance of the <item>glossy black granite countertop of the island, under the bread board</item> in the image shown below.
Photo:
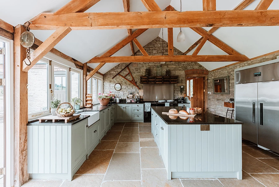
[[[151,107],[168,125],[210,125],[210,124],[243,124],[241,121],[229,119],[226,117],[218,116],[208,112],[197,114],[194,118],[181,119],[170,119],[169,116],[162,114],[162,112],[169,112],[170,109],[175,108],[178,111],[186,110],[189,112],[189,107]]]

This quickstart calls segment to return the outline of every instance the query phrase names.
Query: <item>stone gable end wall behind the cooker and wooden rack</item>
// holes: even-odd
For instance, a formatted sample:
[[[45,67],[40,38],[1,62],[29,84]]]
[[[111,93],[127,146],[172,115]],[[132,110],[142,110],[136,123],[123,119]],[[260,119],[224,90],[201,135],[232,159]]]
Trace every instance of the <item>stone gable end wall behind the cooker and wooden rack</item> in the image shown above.
[[[163,45],[163,49],[162,49]],[[150,43],[144,46],[145,51],[150,56],[155,55],[168,55],[168,46],[167,42],[163,41],[160,37],[152,40]],[[174,48],[174,55],[183,55],[183,52]],[[136,52],[136,56],[142,56],[140,51]],[[128,95],[129,92],[139,91],[133,84],[129,83],[127,80],[124,80],[122,77],[117,75],[114,79],[112,77],[116,75],[119,71],[121,71],[128,63],[120,63],[117,66],[113,67],[110,71],[104,74],[104,93],[108,93],[112,91],[115,93],[117,97],[122,95]],[[140,84],[140,76],[145,75],[145,69],[149,67],[150,75],[157,75],[157,66],[160,66],[162,71],[162,75],[166,75],[166,70],[170,70],[171,75],[178,76],[178,84],[174,84],[174,98],[179,97],[180,85],[184,85],[185,87],[185,70],[190,69],[203,69],[205,68],[201,66],[197,62],[142,62],[142,63],[132,63],[129,66],[129,69],[133,75],[133,78],[140,89],[143,89],[143,85]],[[128,73],[128,70],[125,69],[121,72],[121,75],[125,76]],[[126,76],[128,80],[131,80],[131,76]],[[114,89],[114,85],[116,83],[120,83],[122,85],[122,89],[120,91],[116,91]],[[167,90],[166,90],[167,91]]]

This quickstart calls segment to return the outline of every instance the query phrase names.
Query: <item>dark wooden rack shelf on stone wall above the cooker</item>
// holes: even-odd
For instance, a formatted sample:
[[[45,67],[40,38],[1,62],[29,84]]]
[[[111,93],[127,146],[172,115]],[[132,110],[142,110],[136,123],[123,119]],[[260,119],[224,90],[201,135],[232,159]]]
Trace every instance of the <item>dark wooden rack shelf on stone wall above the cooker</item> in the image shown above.
[[[140,84],[177,84],[178,76],[141,76]]]

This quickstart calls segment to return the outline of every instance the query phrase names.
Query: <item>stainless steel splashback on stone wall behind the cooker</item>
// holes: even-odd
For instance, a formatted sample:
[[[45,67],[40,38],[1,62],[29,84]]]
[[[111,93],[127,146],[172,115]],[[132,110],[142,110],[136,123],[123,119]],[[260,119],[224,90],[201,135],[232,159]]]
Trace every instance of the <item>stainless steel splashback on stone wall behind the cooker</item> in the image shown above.
[[[144,84],[144,101],[173,100],[173,84]]]

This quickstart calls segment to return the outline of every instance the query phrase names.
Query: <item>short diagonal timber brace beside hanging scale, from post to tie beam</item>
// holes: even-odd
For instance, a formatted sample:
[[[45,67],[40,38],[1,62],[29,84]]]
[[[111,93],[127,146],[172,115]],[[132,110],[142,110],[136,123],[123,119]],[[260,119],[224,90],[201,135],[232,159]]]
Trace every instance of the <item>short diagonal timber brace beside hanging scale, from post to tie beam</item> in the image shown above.
[[[31,65],[27,66],[25,62],[28,62],[28,59],[25,58],[25,62],[22,62],[22,71],[27,72],[30,70],[39,60],[42,59],[58,42],[60,42],[71,29],[69,27],[60,27],[55,30],[50,37],[46,39],[35,51],[30,54]]]

